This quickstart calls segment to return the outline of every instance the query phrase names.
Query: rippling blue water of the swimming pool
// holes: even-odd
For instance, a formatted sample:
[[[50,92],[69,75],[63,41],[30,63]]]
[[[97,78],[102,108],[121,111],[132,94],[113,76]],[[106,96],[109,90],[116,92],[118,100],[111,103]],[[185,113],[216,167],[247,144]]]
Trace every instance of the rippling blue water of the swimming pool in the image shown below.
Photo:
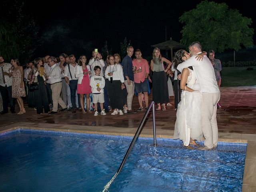
[[[15,130],[0,136],[0,191],[100,192],[132,137]],[[110,192],[241,191],[246,144],[189,150],[182,142],[139,138]]]

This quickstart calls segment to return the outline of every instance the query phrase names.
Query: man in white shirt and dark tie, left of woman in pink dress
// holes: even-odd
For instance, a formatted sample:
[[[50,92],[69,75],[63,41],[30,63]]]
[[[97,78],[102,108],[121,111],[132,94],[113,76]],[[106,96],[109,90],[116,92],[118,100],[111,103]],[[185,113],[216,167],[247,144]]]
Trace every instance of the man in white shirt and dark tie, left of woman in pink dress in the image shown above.
[[[70,59],[70,64],[67,64],[64,69],[64,78],[70,87],[72,113],[75,113],[76,112],[76,89],[77,89],[77,82],[78,82],[78,78],[75,77],[75,68],[78,64],[76,63],[76,58],[74,55],[70,55],[69,59]],[[80,106],[79,100],[78,100],[78,106]]]

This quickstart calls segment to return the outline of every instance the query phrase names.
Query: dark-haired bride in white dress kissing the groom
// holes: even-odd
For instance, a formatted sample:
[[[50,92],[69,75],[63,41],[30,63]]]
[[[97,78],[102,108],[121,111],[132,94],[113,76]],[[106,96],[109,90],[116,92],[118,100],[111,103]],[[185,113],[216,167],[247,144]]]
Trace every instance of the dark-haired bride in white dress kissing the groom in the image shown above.
[[[190,54],[188,52],[178,50],[173,62],[177,68],[178,64],[189,58]],[[197,145],[194,140],[200,142],[203,138],[201,126],[202,94],[199,92],[200,85],[192,67],[182,70],[180,89],[182,89],[182,94],[176,114],[174,139],[180,139],[184,146],[192,148],[190,145]]]

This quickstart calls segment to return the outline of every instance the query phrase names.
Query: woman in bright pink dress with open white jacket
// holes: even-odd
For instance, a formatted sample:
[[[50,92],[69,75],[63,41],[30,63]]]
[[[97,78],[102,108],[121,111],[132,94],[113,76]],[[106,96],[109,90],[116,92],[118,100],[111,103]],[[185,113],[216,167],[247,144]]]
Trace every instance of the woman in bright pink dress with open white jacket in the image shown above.
[[[90,87],[90,66],[86,64],[86,56],[81,55],[78,60],[79,66],[75,68],[75,76],[78,78],[77,82],[77,93],[80,96],[80,104],[82,107],[82,112],[86,113],[84,110],[84,94],[86,94],[86,106],[87,111],[90,111],[90,93],[92,92],[92,88]]]

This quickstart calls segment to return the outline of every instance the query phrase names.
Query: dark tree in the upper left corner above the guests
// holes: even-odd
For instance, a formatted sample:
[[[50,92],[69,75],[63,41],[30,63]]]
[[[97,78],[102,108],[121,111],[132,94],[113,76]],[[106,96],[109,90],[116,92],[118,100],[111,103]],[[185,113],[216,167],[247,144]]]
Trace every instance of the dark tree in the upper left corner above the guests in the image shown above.
[[[39,45],[35,19],[28,14],[22,1],[4,0],[1,6],[0,54],[6,61],[14,57],[21,63],[31,60]]]

